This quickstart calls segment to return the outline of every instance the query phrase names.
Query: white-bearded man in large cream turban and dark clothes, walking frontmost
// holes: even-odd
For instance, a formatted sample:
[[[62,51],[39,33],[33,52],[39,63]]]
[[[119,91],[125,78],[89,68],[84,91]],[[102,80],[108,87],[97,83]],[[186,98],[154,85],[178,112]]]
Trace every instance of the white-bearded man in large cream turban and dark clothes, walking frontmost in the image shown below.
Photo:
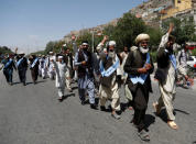
[[[134,115],[133,125],[138,129],[138,135],[143,141],[150,141],[145,130],[145,111],[149,102],[149,93],[152,92],[150,74],[153,73],[153,63],[149,54],[148,34],[139,34],[135,44],[128,55],[124,71],[128,74],[128,88],[133,96]]]

